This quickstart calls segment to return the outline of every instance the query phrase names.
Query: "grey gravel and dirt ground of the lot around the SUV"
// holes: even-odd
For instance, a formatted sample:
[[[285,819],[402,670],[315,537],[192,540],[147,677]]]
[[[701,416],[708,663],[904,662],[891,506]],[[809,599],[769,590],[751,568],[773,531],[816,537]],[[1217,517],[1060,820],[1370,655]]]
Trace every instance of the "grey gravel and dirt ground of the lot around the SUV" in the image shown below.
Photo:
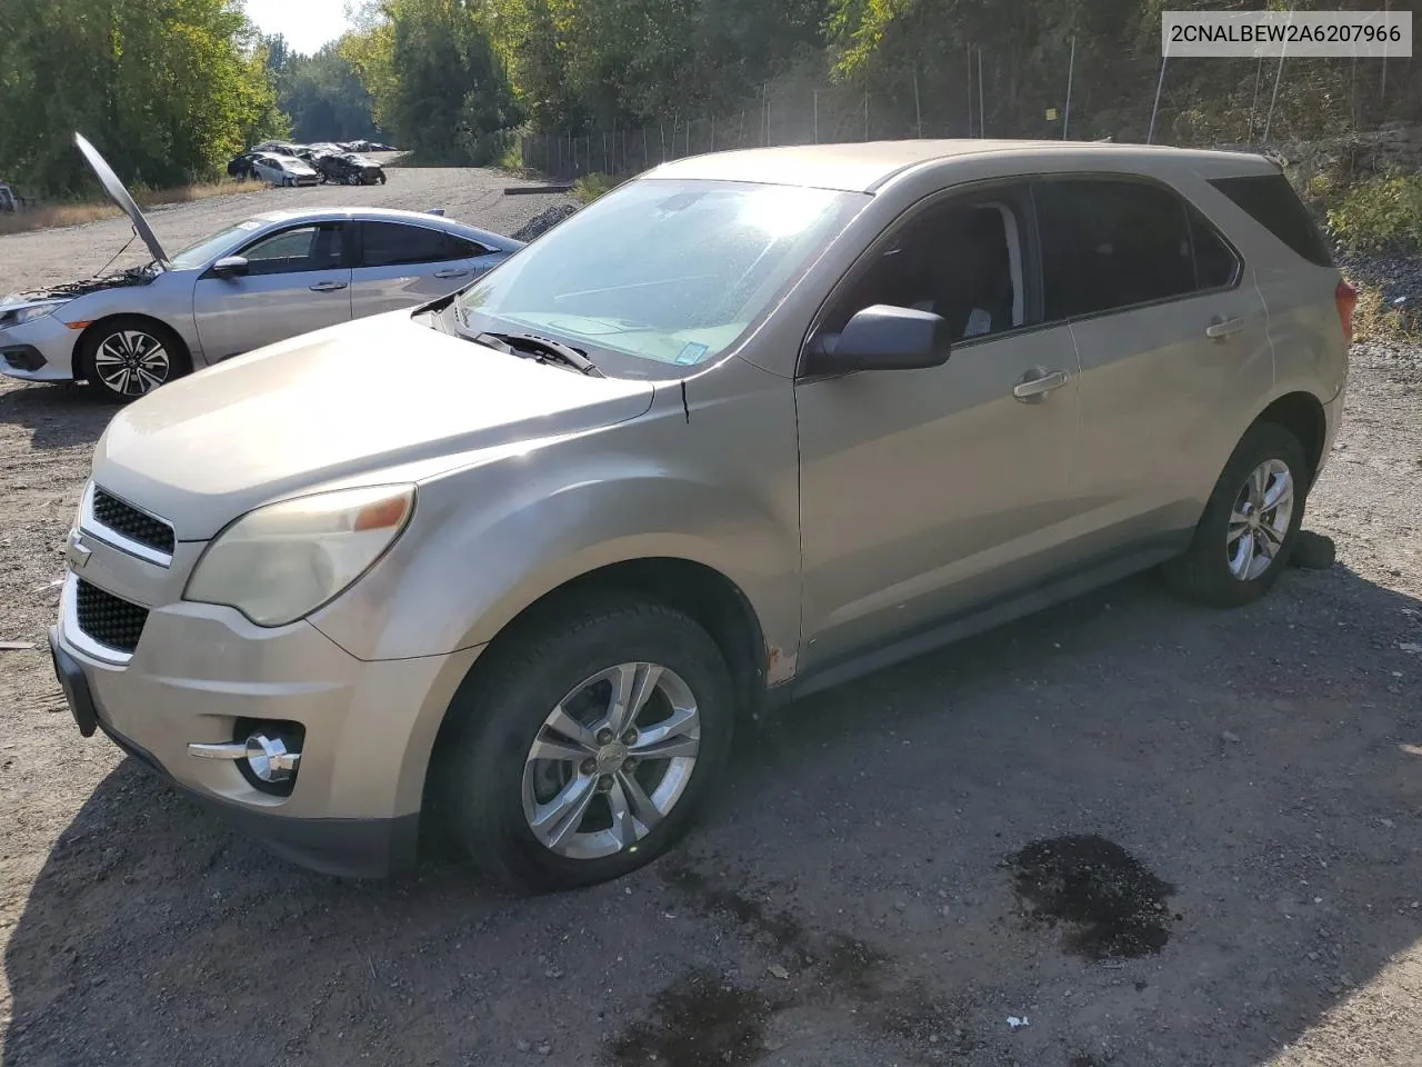
[[[492,228],[546,206],[428,175]],[[0,290],[109,229],[0,239]],[[1415,1067],[1419,403],[1422,349],[1355,351],[1332,569],[1229,613],[1142,576],[806,700],[680,851],[509,899],[304,874],[80,738],[43,642],[111,410],[0,386],[0,640],[40,644],[0,652],[0,1060]]]

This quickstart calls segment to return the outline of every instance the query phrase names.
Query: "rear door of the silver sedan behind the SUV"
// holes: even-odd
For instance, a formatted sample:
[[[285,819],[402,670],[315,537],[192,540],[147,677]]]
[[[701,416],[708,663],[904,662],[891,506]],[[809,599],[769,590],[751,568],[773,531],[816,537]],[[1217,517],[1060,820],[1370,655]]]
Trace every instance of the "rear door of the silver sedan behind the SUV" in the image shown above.
[[[351,282],[357,319],[414,307],[452,293],[478,272],[485,249],[435,226],[360,222],[358,258]]]

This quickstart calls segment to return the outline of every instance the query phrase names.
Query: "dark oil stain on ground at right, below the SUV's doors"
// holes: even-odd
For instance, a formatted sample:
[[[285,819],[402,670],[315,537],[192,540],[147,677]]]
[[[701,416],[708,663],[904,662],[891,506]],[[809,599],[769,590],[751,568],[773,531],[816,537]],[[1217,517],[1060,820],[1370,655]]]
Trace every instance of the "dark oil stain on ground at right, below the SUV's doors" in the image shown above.
[[[1034,918],[1062,923],[1075,955],[1130,959],[1160,952],[1170,939],[1166,898],[1175,886],[1112,841],[1095,834],[1034,841],[1008,864]]]

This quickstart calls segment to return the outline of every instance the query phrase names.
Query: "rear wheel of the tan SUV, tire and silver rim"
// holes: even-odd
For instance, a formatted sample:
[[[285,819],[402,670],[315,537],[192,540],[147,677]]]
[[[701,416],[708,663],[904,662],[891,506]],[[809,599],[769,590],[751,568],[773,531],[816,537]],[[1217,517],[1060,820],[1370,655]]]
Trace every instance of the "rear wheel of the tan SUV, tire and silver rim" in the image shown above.
[[[1287,506],[1268,508],[1285,474]],[[1189,551],[1163,568],[1170,588],[1213,607],[1241,607],[1273,589],[1298,539],[1311,477],[1298,437],[1274,423],[1250,427],[1214,484]]]

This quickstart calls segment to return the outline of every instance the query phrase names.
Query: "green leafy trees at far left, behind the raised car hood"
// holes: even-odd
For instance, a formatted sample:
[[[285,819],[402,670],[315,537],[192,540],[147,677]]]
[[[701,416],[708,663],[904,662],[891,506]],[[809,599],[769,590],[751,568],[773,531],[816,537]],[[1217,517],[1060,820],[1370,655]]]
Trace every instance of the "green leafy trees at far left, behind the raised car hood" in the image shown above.
[[[215,175],[286,131],[235,0],[4,0],[0,115],[0,159],[51,193],[92,185],[74,131],[154,186]]]

